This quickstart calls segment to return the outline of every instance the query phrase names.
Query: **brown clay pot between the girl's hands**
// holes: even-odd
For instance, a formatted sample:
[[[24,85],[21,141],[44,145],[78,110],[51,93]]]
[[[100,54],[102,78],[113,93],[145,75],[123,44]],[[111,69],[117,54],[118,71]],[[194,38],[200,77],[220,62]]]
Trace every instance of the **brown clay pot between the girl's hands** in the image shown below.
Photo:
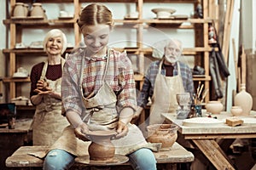
[[[86,134],[91,143],[88,148],[90,160],[94,161],[112,161],[115,148],[111,138],[116,133],[113,131],[94,131]]]

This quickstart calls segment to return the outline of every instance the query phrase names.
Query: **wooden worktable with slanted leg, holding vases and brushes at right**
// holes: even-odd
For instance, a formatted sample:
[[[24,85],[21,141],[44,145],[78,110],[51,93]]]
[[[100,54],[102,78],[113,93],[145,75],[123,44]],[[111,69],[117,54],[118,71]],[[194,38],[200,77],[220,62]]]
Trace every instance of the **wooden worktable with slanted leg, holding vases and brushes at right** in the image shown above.
[[[192,141],[201,152],[207,156],[212,165],[217,169],[235,169],[230,162],[224,150],[221,149],[216,139],[252,139],[256,138],[256,124],[241,125],[238,127],[229,127],[225,123],[216,126],[203,127],[185,127],[183,120],[177,120],[176,114],[163,113],[166,120],[177,124],[178,132],[182,134],[184,139]],[[229,117],[227,113],[221,113],[217,116],[219,120]]]

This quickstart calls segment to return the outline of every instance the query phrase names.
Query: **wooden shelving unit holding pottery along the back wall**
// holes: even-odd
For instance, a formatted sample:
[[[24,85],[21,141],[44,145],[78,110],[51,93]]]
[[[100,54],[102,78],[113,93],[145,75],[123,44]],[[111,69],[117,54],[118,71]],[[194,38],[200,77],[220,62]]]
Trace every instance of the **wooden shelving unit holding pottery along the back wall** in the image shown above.
[[[19,0],[17,2],[27,3],[26,0]],[[79,18],[79,10],[82,3],[124,3],[120,0],[38,0],[37,3],[73,3],[74,6],[74,17],[71,20],[14,20],[10,16],[6,20],[3,20],[3,24],[9,28],[10,37],[9,48],[3,49],[3,54],[9,62],[9,72],[8,77],[3,77],[3,82],[9,85],[9,96],[8,99],[15,98],[20,94],[19,84],[22,82],[30,82],[29,78],[12,78],[11,76],[15,73],[17,69],[17,57],[26,57],[27,55],[37,54],[45,55],[43,49],[16,49],[15,44],[17,42],[22,42],[22,30],[24,28],[28,29],[42,29],[42,28],[73,28],[74,32],[74,42],[75,46],[81,41],[81,35],[79,32],[79,26],[76,24],[76,20]],[[124,20],[116,19],[117,27],[131,26],[131,29],[137,31],[137,48],[117,48],[120,51],[126,50],[127,54],[136,54],[138,57],[138,68],[142,73],[141,75],[136,75],[137,82],[143,82],[143,71],[144,71],[144,59],[152,54],[152,48],[145,48],[143,46],[143,30],[147,29],[148,25],[154,25],[155,27],[165,27],[170,29],[194,29],[195,30],[195,48],[184,48],[183,55],[193,55],[195,56],[195,65],[201,65],[205,69],[205,75],[193,77],[195,83],[201,81],[205,84],[205,88],[210,88],[211,77],[209,74],[209,52],[211,47],[208,44],[208,25],[212,23],[212,20],[216,20],[214,17],[210,18],[212,8],[212,0],[201,0],[203,8],[203,18],[202,19],[188,19],[188,20],[157,20],[157,19],[144,19],[143,18],[143,4],[144,3],[159,3],[157,0],[128,0],[125,3],[135,3],[136,10],[138,12],[137,20]],[[10,8],[14,8],[16,1],[9,0]],[[164,0],[161,3],[193,3],[196,7],[198,0]],[[7,7],[9,8],[9,7]],[[7,12],[9,13],[9,11]],[[9,13],[10,14],[10,13]],[[212,15],[211,15],[212,17]],[[181,25],[183,22],[191,23],[190,26]],[[72,48],[67,49],[67,53],[70,52]],[[141,88],[142,84],[140,84]],[[206,102],[209,100],[209,94],[206,97]]]

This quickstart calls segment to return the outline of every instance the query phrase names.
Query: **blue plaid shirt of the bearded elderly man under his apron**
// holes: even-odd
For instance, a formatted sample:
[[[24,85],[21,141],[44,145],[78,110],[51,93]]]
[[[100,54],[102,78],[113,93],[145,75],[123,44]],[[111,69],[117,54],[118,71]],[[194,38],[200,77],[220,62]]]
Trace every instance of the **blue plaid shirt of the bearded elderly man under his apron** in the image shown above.
[[[179,62],[179,61],[178,61]],[[154,94],[154,82],[155,77],[158,74],[160,66],[160,60],[152,62],[149,67],[148,71],[146,72],[145,79],[143,82],[143,89],[141,90],[139,97],[137,99],[137,105],[141,107],[145,107],[148,104],[148,97],[151,98]],[[177,63],[173,69],[173,76],[177,76]],[[179,68],[181,72],[181,76],[183,78],[183,87],[185,92],[189,92],[191,96],[194,94],[194,82],[192,73],[188,65],[179,62]],[[166,69],[164,66],[161,68],[161,74],[166,75]]]

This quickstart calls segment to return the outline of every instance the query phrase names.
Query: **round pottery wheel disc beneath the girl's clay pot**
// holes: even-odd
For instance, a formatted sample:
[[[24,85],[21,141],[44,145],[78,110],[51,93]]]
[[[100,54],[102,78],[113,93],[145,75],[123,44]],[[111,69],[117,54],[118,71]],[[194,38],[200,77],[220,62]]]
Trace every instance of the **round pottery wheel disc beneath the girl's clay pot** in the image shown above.
[[[114,155],[113,160],[111,161],[95,161],[90,160],[90,156],[79,156],[75,159],[76,162],[95,165],[95,166],[111,166],[111,165],[119,165],[129,161],[129,157],[121,156],[121,155]]]

